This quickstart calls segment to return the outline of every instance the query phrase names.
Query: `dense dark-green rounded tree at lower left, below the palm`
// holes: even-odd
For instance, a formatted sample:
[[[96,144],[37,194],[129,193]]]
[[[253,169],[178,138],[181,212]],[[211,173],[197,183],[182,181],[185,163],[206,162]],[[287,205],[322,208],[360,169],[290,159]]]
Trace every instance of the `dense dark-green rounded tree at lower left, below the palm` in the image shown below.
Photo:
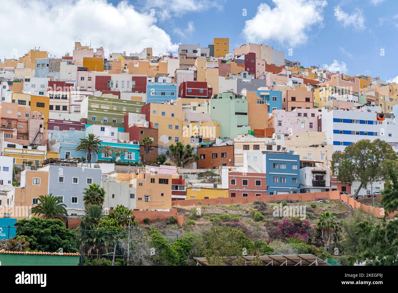
[[[29,242],[29,249],[43,252],[78,252],[72,247],[73,230],[67,230],[59,219],[26,218],[14,224],[16,237],[21,236]]]

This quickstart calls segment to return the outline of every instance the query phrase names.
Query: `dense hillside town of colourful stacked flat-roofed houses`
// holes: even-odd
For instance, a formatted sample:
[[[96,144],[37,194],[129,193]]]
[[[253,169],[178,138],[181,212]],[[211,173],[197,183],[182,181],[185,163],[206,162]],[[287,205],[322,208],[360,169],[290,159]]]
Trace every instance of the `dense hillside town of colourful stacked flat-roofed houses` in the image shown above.
[[[254,205],[254,219],[266,222],[261,205],[281,201],[281,210],[330,201],[384,216],[390,177],[359,174],[341,154],[353,160],[349,151],[366,144],[396,159],[397,83],[304,67],[272,45],[232,47],[228,36],[208,43],[156,55],[151,47],[106,53],[76,41],[58,58],[34,47],[1,59],[0,218],[12,220],[4,227],[61,215],[66,228],[96,230],[88,226],[90,206],[109,219],[127,210],[129,228],[131,217],[144,226],[193,225],[217,205]],[[46,213],[52,199],[64,212]],[[228,214],[220,222],[232,221]],[[261,262],[271,262],[264,250]],[[108,253],[88,251],[96,260]],[[77,250],[64,252],[79,259]],[[195,257],[196,265],[211,263]]]

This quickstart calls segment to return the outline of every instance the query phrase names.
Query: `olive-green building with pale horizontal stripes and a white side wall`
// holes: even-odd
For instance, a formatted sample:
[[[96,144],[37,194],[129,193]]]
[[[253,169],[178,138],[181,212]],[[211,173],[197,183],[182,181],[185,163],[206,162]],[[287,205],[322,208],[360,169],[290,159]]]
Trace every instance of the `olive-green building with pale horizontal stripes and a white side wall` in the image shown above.
[[[121,100],[111,94],[87,96],[82,101],[80,111],[87,124],[111,125],[124,128],[124,115],[141,113],[145,102]]]

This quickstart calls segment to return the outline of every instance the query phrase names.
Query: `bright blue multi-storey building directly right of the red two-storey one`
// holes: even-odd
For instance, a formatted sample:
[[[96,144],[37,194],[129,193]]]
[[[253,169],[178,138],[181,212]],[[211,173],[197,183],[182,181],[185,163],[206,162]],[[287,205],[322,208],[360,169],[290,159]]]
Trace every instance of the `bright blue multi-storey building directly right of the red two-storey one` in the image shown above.
[[[263,151],[267,194],[300,192],[300,155],[290,152]]]

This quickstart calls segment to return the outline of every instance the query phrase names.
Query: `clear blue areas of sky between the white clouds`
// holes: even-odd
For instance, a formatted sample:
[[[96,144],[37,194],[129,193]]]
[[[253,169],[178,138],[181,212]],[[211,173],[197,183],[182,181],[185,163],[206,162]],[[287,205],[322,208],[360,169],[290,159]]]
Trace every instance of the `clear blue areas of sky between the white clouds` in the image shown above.
[[[140,6],[141,1],[131,1],[137,9],[145,11],[150,6]],[[242,33],[245,22],[256,16],[260,3],[270,6],[273,1],[220,1],[219,5],[200,11],[180,13],[170,18],[160,19],[156,25],[164,29],[175,43],[200,43],[206,47],[213,37],[229,37],[230,50],[248,41]],[[154,8],[156,10],[161,8]],[[242,9],[247,16],[242,16]],[[343,12],[343,17],[335,16]],[[347,15],[346,15],[347,14]],[[346,64],[348,74],[368,74],[381,79],[391,79],[398,74],[398,1],[345,0],[327,1],[322,9],[323,20],[309,25],[304,32],[306,41],[291,45],[289,40],[264,39],[262,43],[285,51],[285,58],[301,61],[304,67],[310,65],[332,65],[334,60]],[[295,28],[300,16],[291,15],[291,28]],[[395,17],[395,18],[394,18]],[[181,35],[175,28],[183,30],[189,22],[194,30]],[[287,56],[289,48],[293,56]],[[384,49],[384,56],[380,50]],[[342,67],[344,68],[344,67]]]

